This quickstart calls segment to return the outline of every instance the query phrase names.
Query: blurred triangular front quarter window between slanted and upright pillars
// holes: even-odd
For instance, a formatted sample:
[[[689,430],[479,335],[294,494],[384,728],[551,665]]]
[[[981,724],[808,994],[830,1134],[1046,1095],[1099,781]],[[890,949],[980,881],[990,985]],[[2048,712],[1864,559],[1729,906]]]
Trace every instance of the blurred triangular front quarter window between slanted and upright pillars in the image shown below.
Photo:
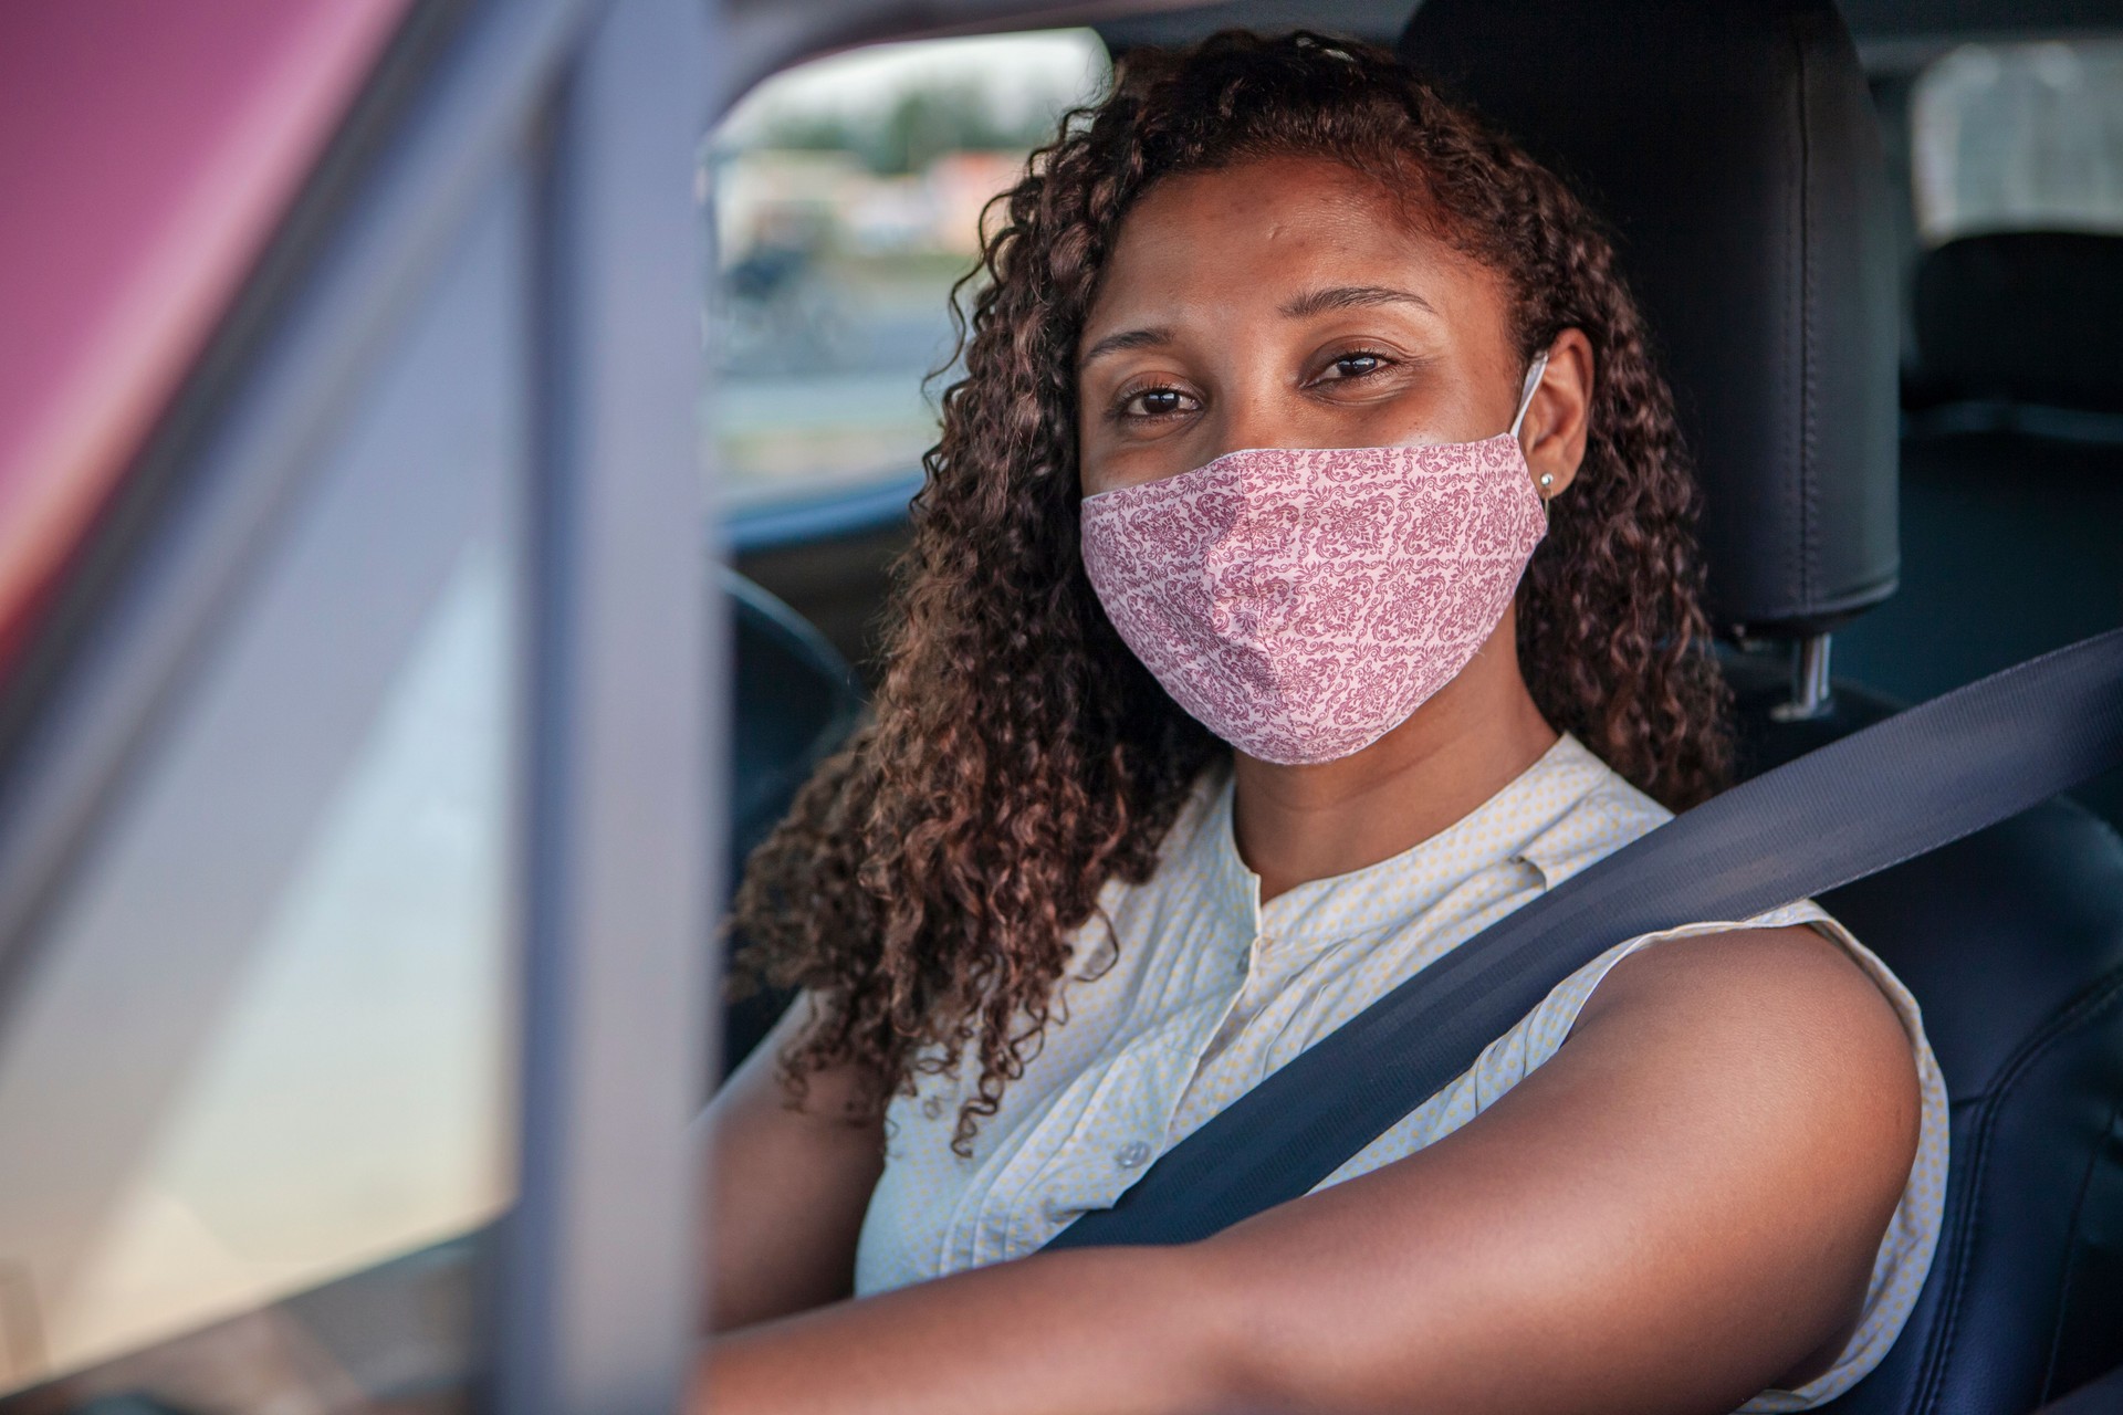
[[[527,212],[505,180],[384,350],[30,940],[0,1033],[0,1390],[510,1201]],[[123,1390],[363,1387],[261,1341]],[[270,1368],[323,1385],[289,1404]]]

